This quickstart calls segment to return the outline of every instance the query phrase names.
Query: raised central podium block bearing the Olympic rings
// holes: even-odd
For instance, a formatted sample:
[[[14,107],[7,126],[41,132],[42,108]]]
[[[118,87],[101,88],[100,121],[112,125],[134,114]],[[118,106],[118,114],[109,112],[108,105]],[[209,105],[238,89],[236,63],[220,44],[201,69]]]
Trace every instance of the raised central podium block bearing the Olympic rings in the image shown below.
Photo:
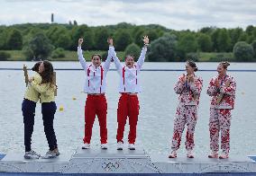
[[[70,159],[63,173],[157,173],[158,170],[151,163],[150,156],[144,150],[123,149],[115,147],[102,149],[79,149]]]

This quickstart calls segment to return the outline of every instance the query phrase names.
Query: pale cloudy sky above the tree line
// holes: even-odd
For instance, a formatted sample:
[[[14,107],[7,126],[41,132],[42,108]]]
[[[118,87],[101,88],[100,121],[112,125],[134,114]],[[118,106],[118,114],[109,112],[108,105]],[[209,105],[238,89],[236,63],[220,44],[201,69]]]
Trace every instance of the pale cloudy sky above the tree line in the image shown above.
[[[0,0],[0,25],[26,22],[99,26],[129,22],[173,30],[245,29],[256,25],[256,0]]]

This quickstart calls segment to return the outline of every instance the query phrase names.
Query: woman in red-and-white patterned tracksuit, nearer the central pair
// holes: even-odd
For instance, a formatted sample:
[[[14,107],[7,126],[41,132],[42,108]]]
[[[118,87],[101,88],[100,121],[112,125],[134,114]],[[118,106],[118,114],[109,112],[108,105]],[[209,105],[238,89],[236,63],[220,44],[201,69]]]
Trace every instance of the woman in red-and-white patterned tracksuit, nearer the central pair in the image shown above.
[[[200,92],[203,87],[203,80],[194,75],[197,66],[193,61],[187,61],[187,75],[178,77],[178,83],[174,87],[174,91],[179,94],[178,108],[174,119],[173,137],[169,158],[177,157],[176,151],[179,148],[181,136],[185,125],[187,124],[186,149],[187,157],[193,158],[192,150],[194,144],[194,132],[197,124],[197,106],[199,104]],[[189,73],[189,69],[192,70]],[[194,70],[193,70],[194,69]]]

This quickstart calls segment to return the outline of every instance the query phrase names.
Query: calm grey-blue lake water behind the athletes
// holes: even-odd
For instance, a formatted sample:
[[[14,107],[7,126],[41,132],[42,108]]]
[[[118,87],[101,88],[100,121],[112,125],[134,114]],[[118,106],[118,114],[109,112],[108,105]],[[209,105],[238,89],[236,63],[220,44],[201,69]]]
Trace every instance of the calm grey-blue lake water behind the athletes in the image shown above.
[[[0,68],[29,68],[32,62],[0,62]],[[80,68],[78,62],[53,62],[55,68]],[[183,69],[185,63],[145,63],[147,69]],[[198,63],[199,69],[215,69],[217,63]],[[111,66],[114,68],[114,64]],[[255,69],[256,64],[232,63],[229,69]],[[173,86],[178,75],[184,71],[143,71],[139,75],[142,81],[142,93],[139,94],[141,110],[137,126],[137,147],[143,147],[149,154],[168,154],[173,130],[173,119],[178,104],[178,95]],[[32,72],[29,73],[32,75]],[[256,154],[256,72],[230,72],[236,79],[236,101],[232,111],[231,154]],[[206,94],[207,85],[215,71],[197,72],[202,76],[204,87],[201,93],[198,120],[195,133],[196,155],[209,152],[209,103]],[[107,75],[106,98],[108,102],[107,128],[109,147],[115,147],[116,108],[119,98],[117,91],[119,75],[110,71]],[[57,71],[58,111],[54,126],[60,153],[73,153],[82,145],[84,136],[84,105],[87,94],[83,93],[84,71]],[[25,91],[22,70],[0,70],[0,153],[23,152],[23,116],[22,101]],[[76,100],[73,100],[76,98]],[[59,106],[64,110],[59,111]],[[128,124],[128,123],[127,123]],[[128,125],[126,124],[124,141],[127,144]],[[178,153],[185,154],[184,136]],[[96,119],[93,128],[92,148],[99,147],[99,127]],[[32,135],[32,148],[44,154],[48,144],[43,132],[41,104],[36,108],[35,126]]]

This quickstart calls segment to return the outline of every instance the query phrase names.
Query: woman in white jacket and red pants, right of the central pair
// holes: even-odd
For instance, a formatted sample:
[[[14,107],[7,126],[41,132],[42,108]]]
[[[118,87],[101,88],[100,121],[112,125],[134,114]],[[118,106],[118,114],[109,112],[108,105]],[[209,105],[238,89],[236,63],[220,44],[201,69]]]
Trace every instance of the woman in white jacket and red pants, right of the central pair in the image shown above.
[[[127,117],[129,117],[130,125],[128,148],[130,150],[135,150],[134,143],[136,139],[136,127],[140,109],[137,93],[141,92],[138,75],[140,74],[145,60],[147,46],[149,45],[149,38],[145,36],[143,41],[144,47],[142,48],[141,56],[136,64],[134,64],[134,57],[128,55],[125,57],[125,65],[123,66],[118,57],[116,57],[115,52],[113,55],[114,65],[120,75],[119,92],[121,94],[117,109],[117,150],[123,150],[123,131]]]

